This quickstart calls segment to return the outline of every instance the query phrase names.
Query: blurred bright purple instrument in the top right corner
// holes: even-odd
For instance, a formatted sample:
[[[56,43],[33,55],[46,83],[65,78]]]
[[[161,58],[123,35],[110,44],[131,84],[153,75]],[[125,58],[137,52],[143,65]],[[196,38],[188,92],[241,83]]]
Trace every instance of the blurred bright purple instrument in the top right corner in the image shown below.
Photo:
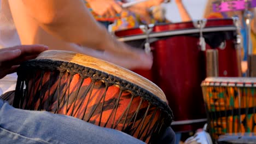
[[[212,4],[214,12],[237,11],[245,10],[246,8],[256,7],[256,0],[246,2],[245,0],[238,1],[216,1]]]

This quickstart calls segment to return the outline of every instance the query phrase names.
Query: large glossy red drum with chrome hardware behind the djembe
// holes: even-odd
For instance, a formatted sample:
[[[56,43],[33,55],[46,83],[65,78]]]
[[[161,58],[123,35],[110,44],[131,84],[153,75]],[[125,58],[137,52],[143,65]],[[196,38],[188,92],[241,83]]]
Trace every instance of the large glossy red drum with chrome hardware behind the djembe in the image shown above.
[[[232,19],[207,20],[201,29],[206,50],[218,51],[218,75],[238,76],[235,49],[237,28]],[[141,28],[115,32],[120,41],[143,49],[147,34]],[[148,34],[154,63],[150,71],[134,70],[164,91],[173,110],[174,131],[191,131],[206,123],[200,84],[206,78],[206,52],[199,46],[200,29],[193,22],[155,25]]]

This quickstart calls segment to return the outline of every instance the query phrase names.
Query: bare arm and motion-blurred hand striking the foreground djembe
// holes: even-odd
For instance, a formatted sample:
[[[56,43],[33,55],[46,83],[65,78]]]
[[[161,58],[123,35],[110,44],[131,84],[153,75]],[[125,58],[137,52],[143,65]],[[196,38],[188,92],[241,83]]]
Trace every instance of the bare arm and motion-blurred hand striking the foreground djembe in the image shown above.
[[[92,17],[84,1],[20,0],[9,1],[9,5],[22,44],[74,51],[127,69],[152,67],[152,55],[114,39]]]

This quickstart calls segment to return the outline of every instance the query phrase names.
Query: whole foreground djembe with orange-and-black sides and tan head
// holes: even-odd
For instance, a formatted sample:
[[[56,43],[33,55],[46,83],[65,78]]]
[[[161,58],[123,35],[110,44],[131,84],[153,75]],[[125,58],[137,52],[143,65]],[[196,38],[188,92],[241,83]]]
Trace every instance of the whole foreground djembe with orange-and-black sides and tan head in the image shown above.
[[[173,119],[164,93],[154,83],[68,51],[45,51],[21,64],[13,105],[77,117],[148,143],[158,140]]]

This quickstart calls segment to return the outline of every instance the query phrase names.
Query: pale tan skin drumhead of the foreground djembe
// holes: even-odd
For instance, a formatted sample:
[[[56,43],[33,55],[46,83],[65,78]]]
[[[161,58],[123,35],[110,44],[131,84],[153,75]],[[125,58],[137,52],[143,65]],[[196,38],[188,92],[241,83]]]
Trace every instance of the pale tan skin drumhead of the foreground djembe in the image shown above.
[[[156,97],[158,97],[165,103],[167,102],[164,92],[162,92],[162,90],[153,82],[147,80],[146,78],[136,73],[133,73],[130,70],[127,70],[125,68],[119,67],[118,65],[106,61],[102,61],[101,59],[82,55],[75,52],[57,50],[44,51],[36,59],[49,59],[53,61],[86,65],[86,67],[103,71],[104,73],[131,82],[134,85],[143,88],[145,91],[154,94]]]

